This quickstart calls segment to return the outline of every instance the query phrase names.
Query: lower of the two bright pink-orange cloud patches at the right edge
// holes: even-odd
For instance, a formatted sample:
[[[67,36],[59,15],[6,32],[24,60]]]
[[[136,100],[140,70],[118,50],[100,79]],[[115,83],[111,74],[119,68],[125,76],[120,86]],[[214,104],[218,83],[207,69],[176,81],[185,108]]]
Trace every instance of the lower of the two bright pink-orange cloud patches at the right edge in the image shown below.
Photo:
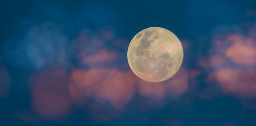
[[[243,69],[220,69],[213,73],[224,93],[239,97],[256,97],[256,73]]]

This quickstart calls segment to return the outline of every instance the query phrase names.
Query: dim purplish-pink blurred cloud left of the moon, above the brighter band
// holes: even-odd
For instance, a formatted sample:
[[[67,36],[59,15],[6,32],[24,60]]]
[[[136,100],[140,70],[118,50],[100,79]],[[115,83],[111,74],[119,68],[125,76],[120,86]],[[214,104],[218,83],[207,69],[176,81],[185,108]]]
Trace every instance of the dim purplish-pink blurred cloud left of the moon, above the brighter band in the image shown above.
[[[127,62],[128,41],[115,36],[112,27],[95,32],[83,29],[68,47],[69,61],[78,68],[120,67]]]

